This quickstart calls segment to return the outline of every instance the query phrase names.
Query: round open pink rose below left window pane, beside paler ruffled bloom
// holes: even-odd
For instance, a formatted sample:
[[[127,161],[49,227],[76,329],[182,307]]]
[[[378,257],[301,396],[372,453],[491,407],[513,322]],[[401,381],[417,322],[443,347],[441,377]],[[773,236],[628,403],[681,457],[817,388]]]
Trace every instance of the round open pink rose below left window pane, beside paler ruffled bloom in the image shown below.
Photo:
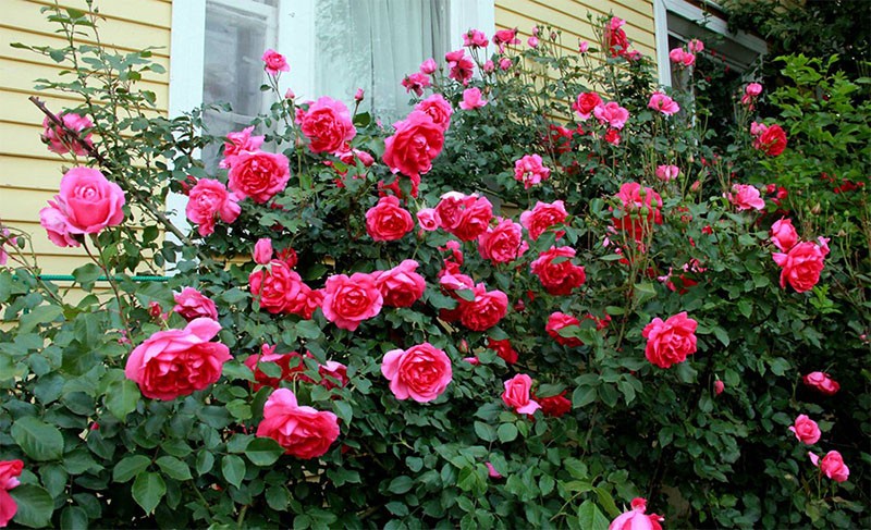
[[[242,151],[230,168],[228,186],[241,199],[250,197],[262,205],[283,192],[290,178],[290,162],[284,155]]]

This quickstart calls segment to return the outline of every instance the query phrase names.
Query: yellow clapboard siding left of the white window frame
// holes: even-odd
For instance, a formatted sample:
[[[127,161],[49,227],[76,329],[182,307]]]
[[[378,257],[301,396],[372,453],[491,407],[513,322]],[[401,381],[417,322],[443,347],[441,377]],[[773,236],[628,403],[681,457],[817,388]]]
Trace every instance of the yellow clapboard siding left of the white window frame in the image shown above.
[[[39,12],[51,0],[0,0],[0,222],[33,236],[44,272],[69,274],[87,258],[81,248],[60,248],[39,225],[39,209],[58,192],[62,176],[60,157],[39,141],[44,114],[27,98],[39,96],[58,112],[75,108],[69,94],[34,90],[34,79],[57,78],[61,67],[51,59],[10,47],[12,42],[63,46],[57,26]],[[105,20],[100,39],[120,52],[161,47],[155,58],[169,72],[171,0],[101,0]],[[84,0],[61,0],[61,7],[86,10]],[[148,74],[143,87],[155,91],[158,108],[167,112],[169,74]],[[69,162],[66,162],[69,165]]]

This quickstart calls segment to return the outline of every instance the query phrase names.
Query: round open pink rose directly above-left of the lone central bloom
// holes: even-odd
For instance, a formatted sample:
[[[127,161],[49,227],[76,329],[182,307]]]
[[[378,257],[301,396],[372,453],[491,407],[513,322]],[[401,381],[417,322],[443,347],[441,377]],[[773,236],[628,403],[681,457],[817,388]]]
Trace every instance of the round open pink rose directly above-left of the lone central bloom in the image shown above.
[[[355,272],[351,278],[335,274],[327,279],[321,310],[327,320],[338,328],[354,331],[360,322],[381,312],[383,304],[384,298],[375,278]]]

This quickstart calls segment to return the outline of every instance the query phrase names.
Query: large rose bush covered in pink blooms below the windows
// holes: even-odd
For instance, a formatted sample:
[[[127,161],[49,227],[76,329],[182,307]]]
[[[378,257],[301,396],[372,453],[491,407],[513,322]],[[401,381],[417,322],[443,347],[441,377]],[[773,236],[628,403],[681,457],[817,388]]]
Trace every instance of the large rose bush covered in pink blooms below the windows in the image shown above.
[[[210,137],[138,110],[148,52],[51,16],[76,44],[34,51],[109,72],[66,111],[103,180],[42,218],[94,258],[81,300],[0,232],[12,525],[869,526],[863,82],[789,59],[796,86],[734,94],[714,134],[614,17],[577,53],[470,33],[385,127],[285,98],[272,51],[270,113]],[[704,83],[699,45],[677,62]]]

